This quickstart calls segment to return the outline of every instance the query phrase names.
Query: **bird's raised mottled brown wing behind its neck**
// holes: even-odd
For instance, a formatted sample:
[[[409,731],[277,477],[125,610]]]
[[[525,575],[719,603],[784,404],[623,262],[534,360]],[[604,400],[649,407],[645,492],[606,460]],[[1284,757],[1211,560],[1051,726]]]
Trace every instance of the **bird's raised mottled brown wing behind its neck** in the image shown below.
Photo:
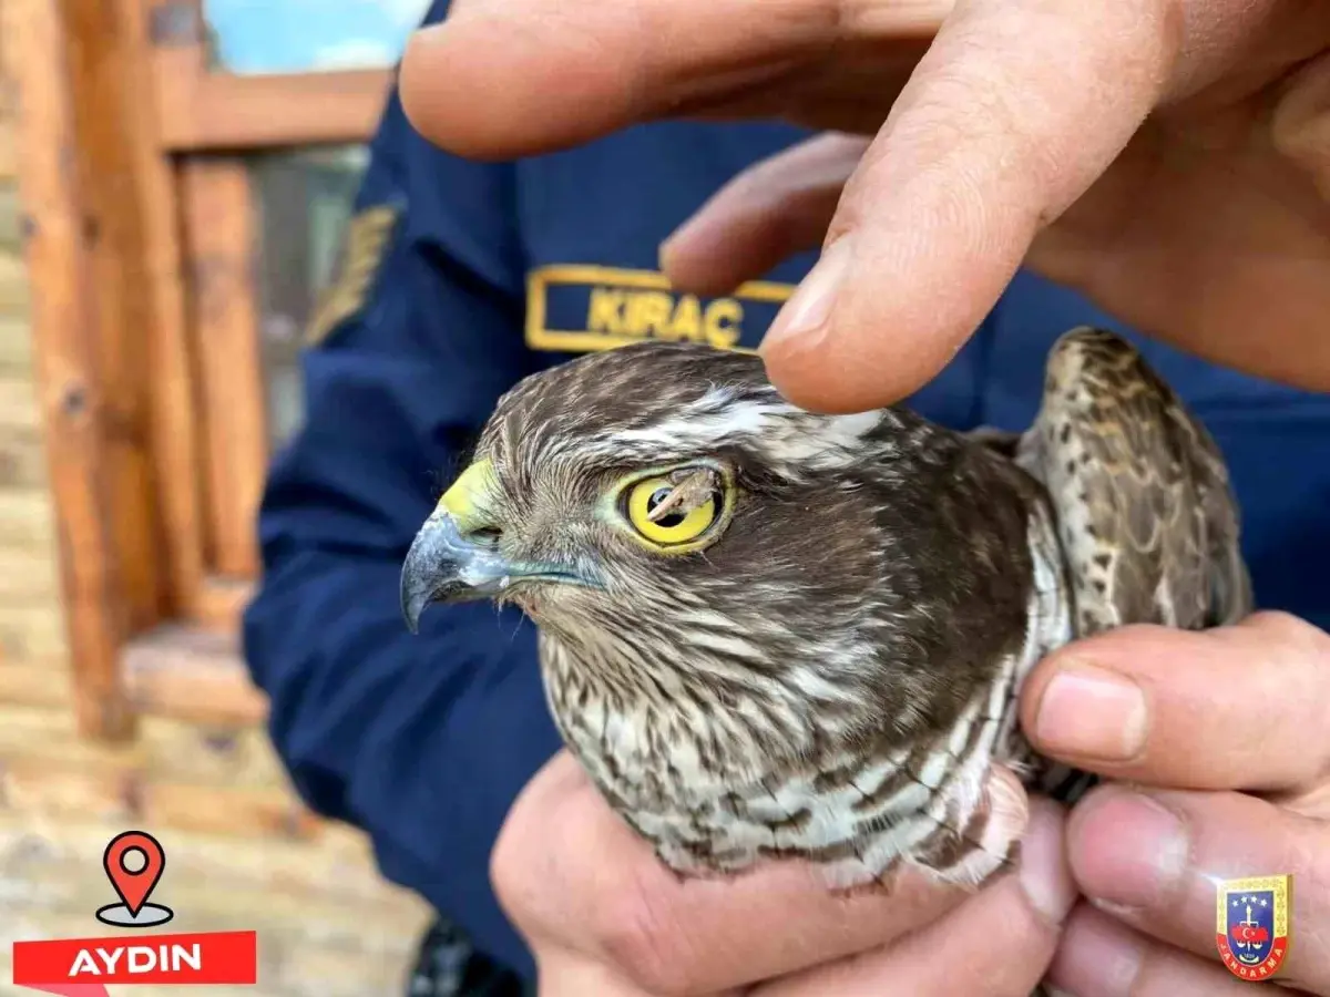
[[[1125,339],[1080,327],[1057,340],[1016,460],[1052,498],[1077,635],[1252,611],[1224,457]]]

